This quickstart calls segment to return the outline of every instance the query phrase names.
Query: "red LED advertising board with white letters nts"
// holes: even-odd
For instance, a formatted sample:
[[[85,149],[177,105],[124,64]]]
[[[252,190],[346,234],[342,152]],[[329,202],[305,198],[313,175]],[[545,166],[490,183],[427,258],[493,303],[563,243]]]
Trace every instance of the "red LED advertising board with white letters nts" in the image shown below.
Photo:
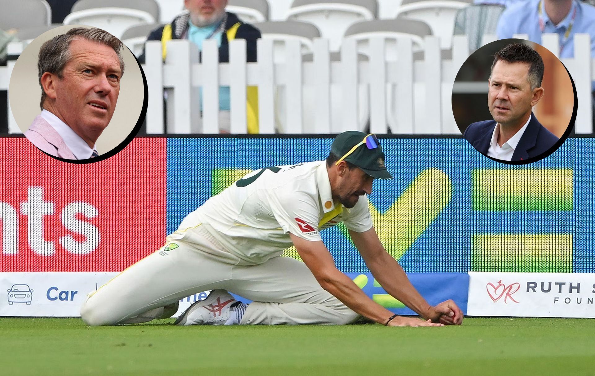
[[[92,164],[0,145],[0,272],[120,272],[163,245],[165,139]]]

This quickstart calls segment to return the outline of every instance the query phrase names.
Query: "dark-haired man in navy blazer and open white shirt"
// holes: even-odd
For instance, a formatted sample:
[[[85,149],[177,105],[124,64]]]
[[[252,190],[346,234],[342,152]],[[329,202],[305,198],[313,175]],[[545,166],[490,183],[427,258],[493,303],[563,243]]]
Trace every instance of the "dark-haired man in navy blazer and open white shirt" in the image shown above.
[[[543,60],[530,46],[514,43],[494,55],[488,79],[488,108],[494,120],[473,123],[464,137],[494,159],[519,161],[540,156],[558,137],[544,128],[531,108],[543,98]]]

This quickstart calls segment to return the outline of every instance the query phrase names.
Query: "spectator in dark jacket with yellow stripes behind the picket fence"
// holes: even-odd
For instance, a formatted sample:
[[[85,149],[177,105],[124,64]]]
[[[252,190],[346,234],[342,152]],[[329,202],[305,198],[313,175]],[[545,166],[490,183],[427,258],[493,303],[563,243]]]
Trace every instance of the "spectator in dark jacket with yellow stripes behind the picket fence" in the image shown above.
[[[229,41],[241,38],[246,39],[246,59],[256,61],[256,39],[261,38],[261,33],[252,25],[240,21],[237,15],[226,12],[226,6],[227,0],[184,0],[186,11],[174,18],[171,24],[153,30],[147,40],[162,42],[163,58],[165,59],[167,55],[166,42],[171,39],[188,39],[198,46],[199,51],[202,51],[202,42],[205,39],[215,39],[219,45],[220,63],[228,63]],[[145,61],[144,53],[139,57],[139,60],[141,63]],[[248,88],[247,98],[248,132],[258,133],[258,92],[256,88]],[[229,86],[221,86],[219,89],[219,110],[221,132],[229,132]]]

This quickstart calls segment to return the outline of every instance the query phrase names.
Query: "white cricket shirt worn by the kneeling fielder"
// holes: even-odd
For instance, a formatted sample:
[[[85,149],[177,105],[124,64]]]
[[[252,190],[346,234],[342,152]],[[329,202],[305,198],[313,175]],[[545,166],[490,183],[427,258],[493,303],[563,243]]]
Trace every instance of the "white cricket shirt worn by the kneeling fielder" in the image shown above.
[[[356,232],[372,227],[367,197],[347,209],[331,196],[325,161],[267,167],[244,176],[184,218],[184,231],[208,232],[224,251],[250,264],[280,256],[289,233],[320,241],[320,231],[343,222]]]

